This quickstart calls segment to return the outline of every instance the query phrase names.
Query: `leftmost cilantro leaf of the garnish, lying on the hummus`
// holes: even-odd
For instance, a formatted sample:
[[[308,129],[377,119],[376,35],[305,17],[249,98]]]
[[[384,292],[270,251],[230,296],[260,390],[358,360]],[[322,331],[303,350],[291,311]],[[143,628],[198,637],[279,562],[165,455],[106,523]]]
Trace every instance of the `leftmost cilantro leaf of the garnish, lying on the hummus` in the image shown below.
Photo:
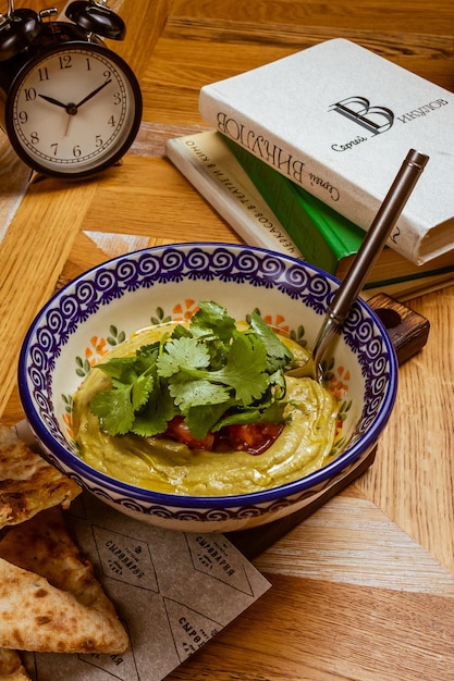
[[[124,435],[133,426],[130,386],[98,393],[90,403],[90,409],[98,417],[101,430],[109,435]]]

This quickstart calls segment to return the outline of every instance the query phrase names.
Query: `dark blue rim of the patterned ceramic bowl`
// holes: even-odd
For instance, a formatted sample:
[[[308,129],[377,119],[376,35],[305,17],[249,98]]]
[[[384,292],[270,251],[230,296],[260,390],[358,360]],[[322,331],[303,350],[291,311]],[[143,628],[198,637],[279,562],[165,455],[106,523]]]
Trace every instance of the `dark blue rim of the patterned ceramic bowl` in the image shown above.
[[[348,468],[353,465],[361,455],[365,455],[369,449],[371,449],[372,445],[377,442],[379,434],[382,432],[384,425],[386,424],[392,408],[394,406],[396,392],[397,392],[397,359],[395,355],[394,346],[389,337],[389,334],[380,320],[377,313],[370,308],[366,301],[358,298],[357,304],[361,308],[364,312],[369,315],[375,325],[380,331],[380,336],[383,340],[383,344],[386,348],[388,359],[390,363],[390,381],[389,385],[385,388],[385,395],[383,401],[380,406],[379,413],[375,418],[373,424],[368,429],[366,433],[363,433],[361,436],[351,446],[347,447],[339,457],[330,461],[321,469],[318,469],[311,473],[308,473],[304,478],[297,479],[295,481],[281,484],[269,490],[262,490],[259,492],[249,492],[244,494],[235,494],[235,495],[225,495],[225,496],[188,496],[188,495],[179,495],[179,494],[169,494],[162,492],[154,492],[150,490],[145,490],[143,487],[138,487],[122,481],[114,480],[105,473],[97,471],[91,468],[89,465],[85,463],[83,459],[77,458],[77,456],[73,453],[70,453],[68,449],[62,447],[62,445],[57,442],[51,433],[47,431],[45,425],[41,423],[41,420],[38,417],[37,409],[35,408],[32,397],[29,396],[29,392],[27,388],[27,355],[30,339],[35,333],[35,329],[38,325],[39,321],[46,314],[46,311],[51,309],[53,302],[59,299],[61,296],[65,294],[65,292],[70,288],[73,288],[78,282],[84,280],[86,276],[89,276],[94,272],[102,270],[103,268],[109,268],[112,263],[118,263],[123,260],[128,260],[130,258],[135,258],[144,252],[158,252],[164,251],[168,248],[176,248],[176,249],[191,249],[191,248],[226,248],[226,249],[235,249],[235,250],[245,250],[245,251],[257,251],[262,255],[271,255],[278,257],[279,259],[283,259],[289,263],[294,263],[302,265],[304,269],[309,269],[317,274],[321,274],[326,276],[331,283],[335,286],[339,285],[339,280],[331,275],[328,272],[324,272],[317,265],[310,264],[307,261],[303,261],[298,258],[294,258],[292,256],[287,256],[284,253],[280,253],[277,251],[272,251],[267,248],[256,247],[256,246],[246,246],[242,244],[229,244],[222,242],[184,242],[179,244],[169,244],[162,246],[150,246],[147,248],[142,248],[134,250],[128,253],[124,253],[121,256],[116,256],[114,258],[110,258],[97,265],[94,265],[79,275],[72,278],[62,288],[56,292],[49,300],[40,308],[32,323],[28,326],[26,335],[24,337],[20,358],[17,366],[17,385],[21,403],[26,416],[26,420],[35,434],[35,436],[40,441],[45,447],[48,449],[53,457],[61,461],[63,467],[71,471],[66,474],[69,476],[72,475],[72,471],[74,471],[74,478],[81,478],[82,481],[85,479],[88,481],[86,484],[88,488],[93,483],[97,485],[101,485],[105,488],[108,488],[111,493],[122,494],[131,496],[135,499],[139,499],[145,503],[156,503],[163,506],[172,506],[172,507],[191,507],[191,508],[232,508],[243,506],[245,503],[247,504],[267,504],[274,502],[280,498],[287,498],[293,495],[297,495],[303,493],[304,491],[314,487],[316,485],[320,485],[324,483],[327,480],[335,478],[339,475],[344,469]],[[321,320],[321,315],[320,315]],[[89,484],[88,484],[89,483]]]

